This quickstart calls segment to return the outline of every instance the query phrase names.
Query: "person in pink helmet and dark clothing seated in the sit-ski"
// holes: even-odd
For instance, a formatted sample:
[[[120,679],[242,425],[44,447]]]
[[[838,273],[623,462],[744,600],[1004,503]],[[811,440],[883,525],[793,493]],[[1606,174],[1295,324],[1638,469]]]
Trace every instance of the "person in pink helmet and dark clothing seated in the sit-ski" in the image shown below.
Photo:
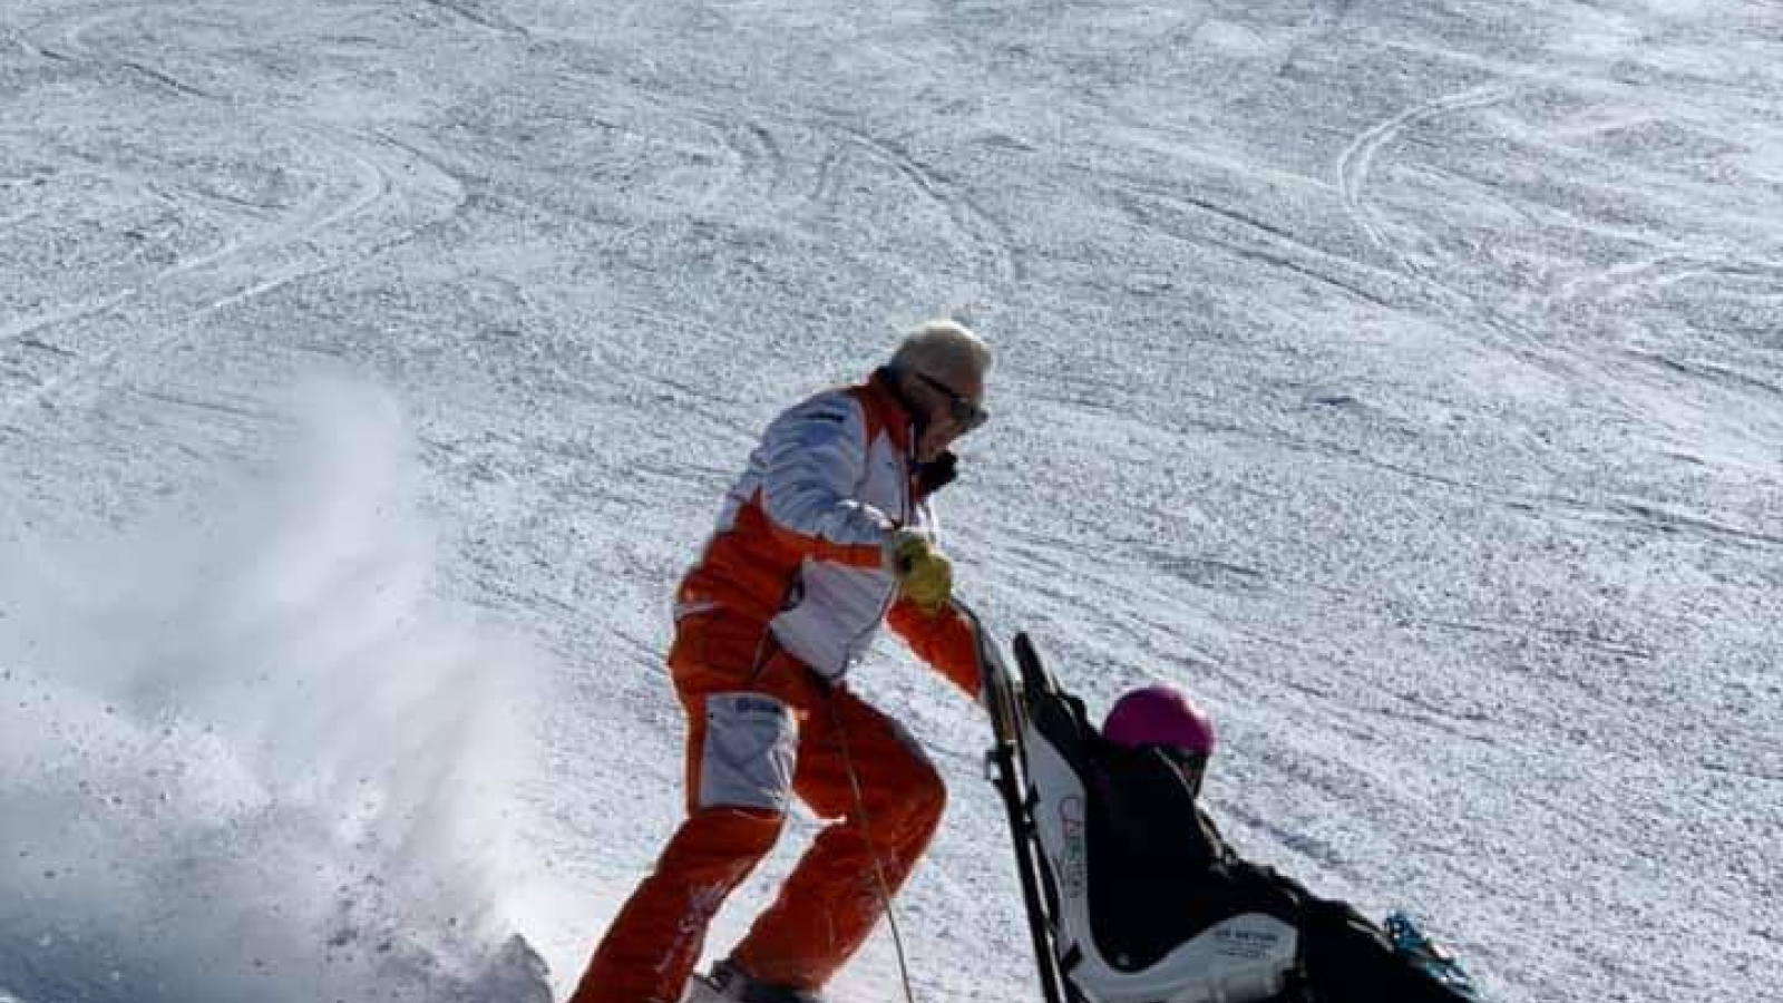
[[[1125,862],[1104,876],[1114,882],[1109,899],[1120,903],[1107,919],[1123,926],[1129,942],[1146,933],[1171,937],[1186,921],[1202,930],[1262,912],[1300,930],[1302,985],[1287,1001],[1478,1003],[1448,949],[1401,914],[1376,926],[1348,903],[1321,899],[1241,858],[1220,837],[1196,803],[1214,751],[1212,721],[1182,692],[1166,685],[1127,692],[1109,710],[1102,737],[1113,750],[1095,782],[1111,816],[1102,832],[1116,842],[1105,857]]]

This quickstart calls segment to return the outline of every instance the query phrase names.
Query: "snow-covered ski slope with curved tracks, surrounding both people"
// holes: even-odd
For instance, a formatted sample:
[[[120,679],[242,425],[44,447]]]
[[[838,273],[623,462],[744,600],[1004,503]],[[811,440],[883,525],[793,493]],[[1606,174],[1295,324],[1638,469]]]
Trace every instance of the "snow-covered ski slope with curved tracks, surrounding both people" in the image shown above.
[[[933,314],[963,587],[1202,696],[1248,853],[1496,999],[1772,992],[1774,2],[7,0],[0,109],[0,998],[567,991],[719,493]],[[1031,999],[975,709],[859,687],[918,999]]]

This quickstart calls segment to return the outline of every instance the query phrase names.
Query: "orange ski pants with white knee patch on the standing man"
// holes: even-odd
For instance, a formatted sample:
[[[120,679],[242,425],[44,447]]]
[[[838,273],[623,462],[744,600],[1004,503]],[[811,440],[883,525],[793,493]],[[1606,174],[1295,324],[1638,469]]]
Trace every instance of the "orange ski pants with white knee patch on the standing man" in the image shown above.
[[[686,819],[569,1003],[679,1001],[706,924],[774,848],[790,796],[831,821],[731,951],[763,982],[820,989],[934,835],[947,792],[915,741],[859,698],[826,689],[765,630],[724,614],[678,625],[669,667],[688,721]]]

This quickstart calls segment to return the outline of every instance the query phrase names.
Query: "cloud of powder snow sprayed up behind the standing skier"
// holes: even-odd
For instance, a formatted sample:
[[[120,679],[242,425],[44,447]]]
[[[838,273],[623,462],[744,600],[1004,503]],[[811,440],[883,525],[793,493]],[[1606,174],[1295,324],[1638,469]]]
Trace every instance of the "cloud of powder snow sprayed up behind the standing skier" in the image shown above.
[[[530,655],[431,598],[387,394],[292,427],[271,477],[0,551],[0,999],[533,998],[490,982]]]

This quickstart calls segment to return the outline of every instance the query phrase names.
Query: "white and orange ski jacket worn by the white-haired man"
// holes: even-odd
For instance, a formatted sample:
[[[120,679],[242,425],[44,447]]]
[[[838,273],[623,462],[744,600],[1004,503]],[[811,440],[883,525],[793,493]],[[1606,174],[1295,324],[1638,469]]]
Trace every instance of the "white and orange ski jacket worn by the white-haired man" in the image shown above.
[[[676,619],[726,612],[765,625],[820,676],[840,680],[879,625],[977,694],[970,626],[954,610],[924,614],[883,566],[899,528],[934,534],[929,496],[954,457],[915,459],[915,427],[890,375],[824,391],[768,425],[731,485],[719,525],[676,593]]]

